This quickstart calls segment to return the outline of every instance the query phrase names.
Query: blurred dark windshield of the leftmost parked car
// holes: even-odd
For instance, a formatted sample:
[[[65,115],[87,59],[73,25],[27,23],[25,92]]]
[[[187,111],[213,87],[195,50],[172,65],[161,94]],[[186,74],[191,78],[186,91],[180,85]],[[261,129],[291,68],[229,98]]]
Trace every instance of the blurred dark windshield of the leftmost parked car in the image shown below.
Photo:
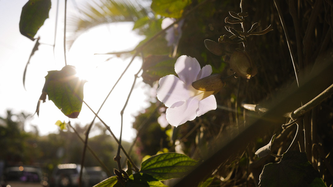
[[[40,178],[38,173],[29,171],[9,171],[6,174],[7,181],[21,181],[21,182],[39,182]]]

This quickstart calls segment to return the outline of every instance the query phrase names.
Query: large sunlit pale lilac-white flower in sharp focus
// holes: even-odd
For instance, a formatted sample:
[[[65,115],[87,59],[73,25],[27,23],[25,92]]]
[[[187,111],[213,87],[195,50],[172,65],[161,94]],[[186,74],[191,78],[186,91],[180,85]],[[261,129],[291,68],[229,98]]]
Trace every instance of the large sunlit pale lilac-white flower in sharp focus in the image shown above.
[[[192,82],[212,73],[210,65],[200,69],[195,58],[182,55],[174,64],[174,70],[179,78],[166,75],[160,79],[157,89],[157,98],[168,107],[166,120],[170,125],[177,127],[216,109],[214,91],[200,91],[192,86]]]

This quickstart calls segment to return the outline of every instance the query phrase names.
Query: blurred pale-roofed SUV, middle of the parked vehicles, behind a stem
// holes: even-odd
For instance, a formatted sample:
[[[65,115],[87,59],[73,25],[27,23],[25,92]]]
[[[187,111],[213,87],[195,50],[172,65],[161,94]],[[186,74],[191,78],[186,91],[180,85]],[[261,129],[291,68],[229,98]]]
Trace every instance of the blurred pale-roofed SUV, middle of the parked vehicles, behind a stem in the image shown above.
[[[79,186],[81,165],[59,164],[52,173],[52,186],[76,187]],[[85,168],[82,170],[82,186],[88,187],[89,176]]]

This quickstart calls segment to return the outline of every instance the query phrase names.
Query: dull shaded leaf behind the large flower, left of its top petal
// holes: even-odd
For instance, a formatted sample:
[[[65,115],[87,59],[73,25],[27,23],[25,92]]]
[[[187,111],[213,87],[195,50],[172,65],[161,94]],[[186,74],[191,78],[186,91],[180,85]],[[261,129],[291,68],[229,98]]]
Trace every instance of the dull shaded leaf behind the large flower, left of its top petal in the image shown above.
[[[149,55],[145,58],[142,66],[143,81],[153,85],[154,81],[166,75],[174,74],[174,63],[175,59],[170,58],[168,55]]]

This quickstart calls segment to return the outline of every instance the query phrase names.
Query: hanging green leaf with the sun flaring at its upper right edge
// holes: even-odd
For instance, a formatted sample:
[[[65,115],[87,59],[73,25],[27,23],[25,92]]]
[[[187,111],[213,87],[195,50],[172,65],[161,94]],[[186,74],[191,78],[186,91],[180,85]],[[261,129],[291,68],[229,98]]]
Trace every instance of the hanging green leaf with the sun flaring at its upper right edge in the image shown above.
[[[83,101],[83,86],[86,80],[76,76],[76,69],[72,65],[64,66],[60,71],[48,71],[42,95],[37,104],[37,114],[41,100],[45,102],[46,94],[49,100],[69,118],[77,118],[81,112]]]

